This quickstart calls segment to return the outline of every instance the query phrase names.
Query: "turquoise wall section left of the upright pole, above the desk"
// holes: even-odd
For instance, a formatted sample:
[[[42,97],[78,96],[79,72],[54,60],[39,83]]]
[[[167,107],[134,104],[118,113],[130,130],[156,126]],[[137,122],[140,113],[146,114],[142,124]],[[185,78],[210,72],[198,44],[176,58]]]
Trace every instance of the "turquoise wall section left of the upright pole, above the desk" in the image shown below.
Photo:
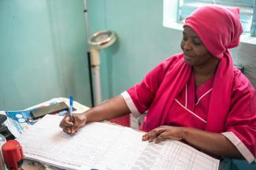
[[[50,98],[91,105],[83,0],[0,1],[0,109]]]

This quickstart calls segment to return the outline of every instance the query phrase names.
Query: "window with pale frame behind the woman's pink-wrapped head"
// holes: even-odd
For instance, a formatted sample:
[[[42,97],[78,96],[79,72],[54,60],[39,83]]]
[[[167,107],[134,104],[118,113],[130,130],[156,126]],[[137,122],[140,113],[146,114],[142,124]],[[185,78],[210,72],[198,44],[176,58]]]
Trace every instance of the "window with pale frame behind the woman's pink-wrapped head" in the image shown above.
[[[164,0],[164,24],[168,4],[173,0]],[[239,7],[243,34],[256,36],[256,0],[179,0],[176,1],[176,22],[182,24],[187,16],[200,6],[206,5]],[[173,20],[174,21],[174,20]]]

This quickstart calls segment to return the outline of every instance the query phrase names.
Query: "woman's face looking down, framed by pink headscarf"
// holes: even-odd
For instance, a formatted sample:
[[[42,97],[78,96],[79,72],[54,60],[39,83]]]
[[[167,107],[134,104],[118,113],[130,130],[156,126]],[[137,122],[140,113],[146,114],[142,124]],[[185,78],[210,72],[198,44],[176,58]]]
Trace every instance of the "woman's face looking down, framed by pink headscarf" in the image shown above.
[[[187,65],[202,66],[210,64],[216,58],[202,44],[201,39],[190,27],[184,27],[181,49],[184,51],[184,60]]]

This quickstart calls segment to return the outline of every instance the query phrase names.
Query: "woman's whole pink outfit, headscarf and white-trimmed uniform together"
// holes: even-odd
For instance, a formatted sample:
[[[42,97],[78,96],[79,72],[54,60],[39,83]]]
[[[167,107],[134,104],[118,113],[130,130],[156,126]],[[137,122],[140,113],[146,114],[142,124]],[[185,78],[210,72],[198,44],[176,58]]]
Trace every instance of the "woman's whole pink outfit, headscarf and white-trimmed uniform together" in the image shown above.
[[[228,49],[239,45],[243,28],[238,8],[203,6],[185,20],[213,57],[214,76],[195,88],[184,53],[165,59],[122,96],[135,116],[147,112],[141,129],[161,125],[195,127],[225,135],[248,162],[256,156],[256,92],[234,68]],[[190,50],[193,50],[191,47]]]

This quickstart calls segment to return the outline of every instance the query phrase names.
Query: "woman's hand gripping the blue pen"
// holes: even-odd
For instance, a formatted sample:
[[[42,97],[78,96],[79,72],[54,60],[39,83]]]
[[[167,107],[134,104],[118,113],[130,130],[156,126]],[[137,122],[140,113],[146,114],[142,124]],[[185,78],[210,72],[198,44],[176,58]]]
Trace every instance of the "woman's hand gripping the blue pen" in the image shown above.
[[[65,133],[76,134],[76,131],[83,127],[87,123],[87,114],[74,113],[73,121],[71,121],[69,113],[65,114],[65,117],[61,120],[60,127]]]

